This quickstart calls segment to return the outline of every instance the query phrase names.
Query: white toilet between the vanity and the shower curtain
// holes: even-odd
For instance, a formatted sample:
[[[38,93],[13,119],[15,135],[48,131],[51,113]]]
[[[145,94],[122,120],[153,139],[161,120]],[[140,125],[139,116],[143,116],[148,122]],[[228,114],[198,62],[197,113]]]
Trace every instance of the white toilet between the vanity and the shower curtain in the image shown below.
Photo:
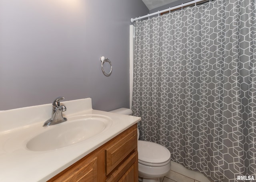
[[[132,114],[132,110],[127,108],[120,108],[110,112],[126,115]],[[162,145],[138,140],[138,162],[140,182],[160,182],[160,178],[170,171],[171,154]]]

